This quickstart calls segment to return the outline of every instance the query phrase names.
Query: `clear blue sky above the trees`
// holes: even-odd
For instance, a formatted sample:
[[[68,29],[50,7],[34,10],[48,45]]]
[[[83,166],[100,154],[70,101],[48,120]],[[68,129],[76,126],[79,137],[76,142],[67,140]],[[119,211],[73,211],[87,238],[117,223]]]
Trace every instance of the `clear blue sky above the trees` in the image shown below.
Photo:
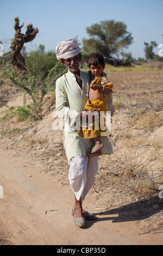
[[[86,27],[105,20],[123,21],[131,32],[134,42],[125,51],[135,58],[145,57],[143,43],[163,42],[163,0],[0,0],[0,40],[4,52],[9,51],[10,40],[14,38],[14,17],[18,16],[20,25],[24,22],[22,33],[26,33],[27,23],[39,28],[33,42],[24,44],[33,50],[39,44],[45,51],[55,50],[57,44],[66,39],[78,37],[88,39]],[[155,48],[158,54],[159,48]]]

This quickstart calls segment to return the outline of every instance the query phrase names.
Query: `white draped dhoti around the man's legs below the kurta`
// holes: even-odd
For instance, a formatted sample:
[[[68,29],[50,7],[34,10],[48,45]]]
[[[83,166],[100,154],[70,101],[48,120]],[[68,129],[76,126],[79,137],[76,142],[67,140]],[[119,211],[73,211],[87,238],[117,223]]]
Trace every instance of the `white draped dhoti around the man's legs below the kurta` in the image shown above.
[[[70,164],[68,178],[78,201],[81,197],[83,201],[95,182],[95,175],[98,172],[98,159],[98,156],[74,156],[68,161],[68,164]]]

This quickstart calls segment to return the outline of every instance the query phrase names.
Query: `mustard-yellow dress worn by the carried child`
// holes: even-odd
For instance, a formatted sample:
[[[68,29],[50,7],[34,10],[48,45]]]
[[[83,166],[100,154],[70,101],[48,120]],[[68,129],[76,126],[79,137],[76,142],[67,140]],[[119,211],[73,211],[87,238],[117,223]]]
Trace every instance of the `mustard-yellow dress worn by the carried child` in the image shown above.
[[[91,82],[91,71],[89,71],[89,78]],[[106,74],[103,72],[100,76],[96,78],[93,84],[98,84],[99,86],[108,87],[112,90],[112,83],[109,82]],[[92,84],[92,85],[93,85]],[[89,99],[86,102],[85,109],[100,109],[101,117],[98,122],[82,121],[81,130],[77,131],[78,135],[85,139],[95,138],[101,136],[102,132],[105,136],[111,136],[110,131],[105,126],[105,117],[104,114],[106,111],[111,112],[111,116],[114,114],[114,106],[112,105],[112,93],[111,94],[101,94],[101,99],[96,99],[90,101]]]

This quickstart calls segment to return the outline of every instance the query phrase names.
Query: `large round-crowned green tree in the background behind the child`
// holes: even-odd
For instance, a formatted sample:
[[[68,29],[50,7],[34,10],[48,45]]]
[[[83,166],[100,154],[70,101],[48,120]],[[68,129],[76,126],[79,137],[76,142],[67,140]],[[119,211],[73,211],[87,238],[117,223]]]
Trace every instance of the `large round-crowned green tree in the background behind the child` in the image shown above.
[[[123,48],[127,48],[133,37],[127,31],[127,26],[121,21],[106,20],[86,28],[90,39],[83,39],[83,51],[90,53],[99,51],[104,56],[111,57]]]

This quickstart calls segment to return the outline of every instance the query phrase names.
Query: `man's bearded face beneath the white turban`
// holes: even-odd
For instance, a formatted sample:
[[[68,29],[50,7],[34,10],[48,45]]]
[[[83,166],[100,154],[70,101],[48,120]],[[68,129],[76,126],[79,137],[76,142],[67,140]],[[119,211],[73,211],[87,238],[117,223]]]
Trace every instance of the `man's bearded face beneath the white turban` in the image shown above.
[[[64,64],[64,66],[67,66],[68,70],[72,72],[73,74],[79,73],[79,63],[81,59],[81,54],[68,58],[68,59],[61,59],[61,63]]]

